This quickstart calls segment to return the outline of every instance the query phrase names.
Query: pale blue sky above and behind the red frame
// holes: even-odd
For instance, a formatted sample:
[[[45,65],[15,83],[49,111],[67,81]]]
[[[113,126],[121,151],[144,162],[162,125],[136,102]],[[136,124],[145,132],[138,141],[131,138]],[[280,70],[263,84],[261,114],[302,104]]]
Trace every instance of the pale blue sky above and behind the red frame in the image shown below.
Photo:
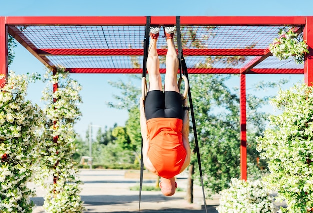
[[[0,16],[310,16],[312,8],[313,0],[1,0]],[[45,72],[43,64],[20,45],[15,49],[9,70],[18,74]],[[118,93],[107,81],[124,79],[125,75],[75,74],[72,77],[83,86],[84,103],[80,106],[83,117],[75,126],[80,135],[85,136],[90,123],[103,127],[125,124],[126,111],[105,105],[105,101],[113,100],[113,93]],[[281,77],[290,76],[261,76],[264,80]],[[247,88],[257,79],[260,76],[247,76]],[[289,86],[302,79],[302,75],[292,75]],[[44,86],[41,83],[30,85],[28,98],[42,105],[40,97]]]

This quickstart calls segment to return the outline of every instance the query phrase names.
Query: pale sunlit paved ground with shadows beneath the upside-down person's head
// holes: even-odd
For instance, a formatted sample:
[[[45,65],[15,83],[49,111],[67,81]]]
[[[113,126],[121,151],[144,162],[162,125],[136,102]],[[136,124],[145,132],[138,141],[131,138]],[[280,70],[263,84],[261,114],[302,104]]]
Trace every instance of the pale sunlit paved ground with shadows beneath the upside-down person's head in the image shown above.
[[[132,186],[138,186],[140,179],[138,175],[129,177],[128,170],[106,170],[106,169],[82,169],[80,179],[82,185],[81,198],[84,201],[86,210],[84,212],[138,212],[139,191],[129,190]],[[144,175],[144,185],[155,185],[155,179],[149,179],[150,175]],[[186,189],[187,179],[185,174],[177,176],[179,188]],[[34,187],[30,185],[30,187]],[[44,212],[43,196],[44,191],[36,188],[37,197],[33,197],[35,202],[33,213]],[[185,200],[186,192],[176,192],[173,196],[163,196],[160,191],[142,191],[141,211],[142,213],[200,213],[205,212],[203,207],[202,189],[199,186],[194,188],[194,203],[189,204]],[[216,213],[218,197],[207,200],[209,213]]]

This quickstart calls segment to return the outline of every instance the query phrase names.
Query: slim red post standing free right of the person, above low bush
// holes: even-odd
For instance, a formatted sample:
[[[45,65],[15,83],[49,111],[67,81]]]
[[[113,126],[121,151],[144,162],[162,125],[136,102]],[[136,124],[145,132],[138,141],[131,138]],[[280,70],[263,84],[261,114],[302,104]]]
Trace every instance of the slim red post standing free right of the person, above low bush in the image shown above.
[[[246,88],[245,73],[240,74],[240,165],[241,179],[247,179],[247,152],[246,152]]]

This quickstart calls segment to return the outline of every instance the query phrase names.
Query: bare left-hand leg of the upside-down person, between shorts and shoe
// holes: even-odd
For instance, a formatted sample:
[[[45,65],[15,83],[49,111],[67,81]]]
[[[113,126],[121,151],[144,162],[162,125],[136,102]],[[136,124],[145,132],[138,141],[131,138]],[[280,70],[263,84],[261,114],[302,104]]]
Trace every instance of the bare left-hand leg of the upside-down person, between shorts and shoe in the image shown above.
[[[162,78],[160,75],[160,61],[156,50],[157,39],[153,39],[151,36],[151,42],[149,46],[149,54],[146,62],[147,71],[149,74],[149,89],[160,90],[162,89]]]

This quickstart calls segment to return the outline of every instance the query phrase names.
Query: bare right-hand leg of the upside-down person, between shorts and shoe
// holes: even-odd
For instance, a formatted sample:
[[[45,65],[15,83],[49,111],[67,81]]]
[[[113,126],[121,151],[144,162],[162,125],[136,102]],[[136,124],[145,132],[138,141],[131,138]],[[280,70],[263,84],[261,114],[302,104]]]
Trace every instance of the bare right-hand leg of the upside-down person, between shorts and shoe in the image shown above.
[[[178,58],[173,38],[167,38],[166,54],[166,74],[165,74],[165,91],[176,91],[179,93],[177,86]]]

